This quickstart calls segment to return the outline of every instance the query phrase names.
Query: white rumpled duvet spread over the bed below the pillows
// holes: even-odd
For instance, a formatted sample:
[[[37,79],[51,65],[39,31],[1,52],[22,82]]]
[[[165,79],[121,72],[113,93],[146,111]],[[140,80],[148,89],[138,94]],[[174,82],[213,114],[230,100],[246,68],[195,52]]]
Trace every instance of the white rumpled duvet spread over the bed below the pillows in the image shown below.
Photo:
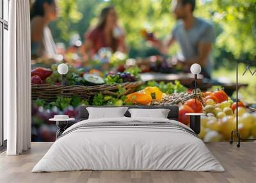
[[[73,170],[225,171],[204,142],[189,132],[168,127],[91,127],[93,122],[170,122],[163,118],[84,120],[57,139],[32,172]]]

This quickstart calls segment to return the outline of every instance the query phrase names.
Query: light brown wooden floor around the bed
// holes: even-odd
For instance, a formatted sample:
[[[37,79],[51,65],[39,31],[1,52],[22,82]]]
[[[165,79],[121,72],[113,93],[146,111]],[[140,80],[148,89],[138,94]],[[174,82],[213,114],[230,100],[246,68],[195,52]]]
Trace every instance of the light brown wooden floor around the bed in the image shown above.
[[[194,171],[65,171],[31,173],[31,169],[52,143],[32,143],[31,150],[19,156],[0,154],[0,182],[256,182],[256,143],[207,143],[224,166],[225,172]]]

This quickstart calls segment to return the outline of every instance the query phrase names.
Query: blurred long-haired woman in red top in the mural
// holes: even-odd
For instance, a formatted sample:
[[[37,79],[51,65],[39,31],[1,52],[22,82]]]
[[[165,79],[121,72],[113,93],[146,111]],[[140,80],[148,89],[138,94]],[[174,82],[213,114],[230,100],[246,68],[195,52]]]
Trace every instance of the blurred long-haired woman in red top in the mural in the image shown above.
[[[85,34],[85,43],[82,47],[84,60],[97,54],[102,47],[109,47],[113,52],[127,52],[124,31],[118,27],[117,20],[118,16],[113,6],[102,10],[97,26]]]

